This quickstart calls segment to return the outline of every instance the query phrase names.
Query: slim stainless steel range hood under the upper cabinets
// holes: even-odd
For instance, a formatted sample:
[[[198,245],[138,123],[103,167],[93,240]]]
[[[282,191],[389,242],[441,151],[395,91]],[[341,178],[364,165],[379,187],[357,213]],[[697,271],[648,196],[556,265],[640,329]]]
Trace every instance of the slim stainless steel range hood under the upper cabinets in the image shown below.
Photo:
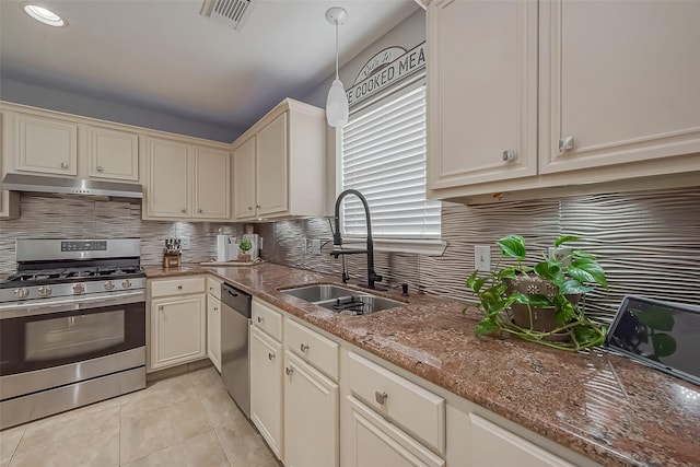
[[[125,199],[131,202],[143,198],[143,187],[139,184],[12,173],[7,174],[2,179],[2,189]]]

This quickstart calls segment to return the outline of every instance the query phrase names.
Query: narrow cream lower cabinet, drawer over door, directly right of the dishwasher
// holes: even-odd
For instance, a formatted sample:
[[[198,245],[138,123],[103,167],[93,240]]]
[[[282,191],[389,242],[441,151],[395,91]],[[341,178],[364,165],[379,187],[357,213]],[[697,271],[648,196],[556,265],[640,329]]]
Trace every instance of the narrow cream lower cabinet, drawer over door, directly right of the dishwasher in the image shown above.
[[[253,299],[252,322],[250,420],[281,459],[284,456],[282,314]]]

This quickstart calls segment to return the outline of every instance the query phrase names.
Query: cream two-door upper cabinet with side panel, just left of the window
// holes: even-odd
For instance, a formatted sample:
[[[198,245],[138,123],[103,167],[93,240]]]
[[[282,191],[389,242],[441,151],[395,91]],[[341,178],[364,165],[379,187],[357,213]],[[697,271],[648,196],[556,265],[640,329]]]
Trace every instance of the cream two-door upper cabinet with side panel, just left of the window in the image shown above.
[[[325,214],[324,115],[288,98],[233,143],[236,220]]]

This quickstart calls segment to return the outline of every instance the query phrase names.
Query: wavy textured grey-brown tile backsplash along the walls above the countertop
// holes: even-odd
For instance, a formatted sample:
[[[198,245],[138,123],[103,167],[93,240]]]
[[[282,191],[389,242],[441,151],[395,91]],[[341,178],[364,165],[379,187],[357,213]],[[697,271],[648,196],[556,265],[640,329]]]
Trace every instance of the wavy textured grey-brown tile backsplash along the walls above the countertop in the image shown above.
[[[141,262],[159,265],[165,238],[188,236],[191,248],[185,262],[215,256],[215,235],[223,229],[241,235],[244,224],[155,222],[141,220],[141,206],[82,198],[22,196],[22,218],[2,221],[0,273],[13,272],[15,238],[140,237]],[[576,244],[593,253],[608,275],[610,288],[587,296],[587,312],[611,318],[628,293],[700,303],[700,188],[626,194],[582,195],[483,206],[443,206],[443,256],[375,254],[375,269],[390,287],[409,283],[421,291],[464,301],[472,296],[464,287],[474,270],[474,246],[491,245],[503,235],[525,236],[532,249],[544,249],[562,234],[576,234]],[[262,257],[272,262],[336,275],[341,260],[331,258],[328,219],[311,218],[256,224],[264,238]],[[302,254],[302,238],[324,243],[322,255]],[[366,275],[363,255],[347,257],[353,281]]]

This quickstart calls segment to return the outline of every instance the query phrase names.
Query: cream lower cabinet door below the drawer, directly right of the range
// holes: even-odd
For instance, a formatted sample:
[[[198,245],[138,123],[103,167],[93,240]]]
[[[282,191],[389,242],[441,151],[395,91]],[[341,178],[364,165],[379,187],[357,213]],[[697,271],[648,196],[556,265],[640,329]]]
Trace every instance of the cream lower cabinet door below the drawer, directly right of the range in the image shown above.
[[[207,357],[205,295],[151,301],[151,369]]]

